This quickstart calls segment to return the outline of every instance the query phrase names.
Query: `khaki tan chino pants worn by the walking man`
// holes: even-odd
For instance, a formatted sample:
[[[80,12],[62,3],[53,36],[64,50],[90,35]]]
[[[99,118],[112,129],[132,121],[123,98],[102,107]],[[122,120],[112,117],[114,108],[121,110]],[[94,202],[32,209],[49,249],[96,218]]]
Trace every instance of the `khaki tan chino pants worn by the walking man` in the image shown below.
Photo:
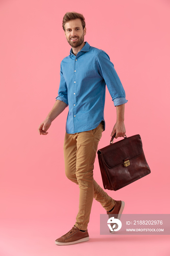
[[[79,210],[75,226],[81,230],[87,229],[93,197],[101,203],[106,211],[111,210],[115,205],[115,200],[108,196],[93,179],[94,161],[103,125],[102,121],[93,130],[65,134],[65,173],[67,178],[78,184],[80,188]]]

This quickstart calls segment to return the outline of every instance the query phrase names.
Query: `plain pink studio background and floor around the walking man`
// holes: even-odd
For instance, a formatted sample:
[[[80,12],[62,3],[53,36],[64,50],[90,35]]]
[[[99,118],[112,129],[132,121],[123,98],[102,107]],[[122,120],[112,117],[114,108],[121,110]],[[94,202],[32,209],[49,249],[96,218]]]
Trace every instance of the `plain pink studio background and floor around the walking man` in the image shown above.
[[[140,134],[151,174],[108,191],[124,200],[124,213],[169,214],[169,59],[168,0],[1,0],[1,171],[0,255],[170,255],[169,236],[100,236],[105,210],[93,201],[89,242],[57,246],[78,211],[78,186],[63,164],[66,109],[49,129],[38,126],[54,105],[61,60],[70,46],[62,30],[67,11],[84,14],[85,41],[105,50],[124,86],[127,136]],[[107,146],[116,109],[107,91]],[[96,158],[94,178],[103,187]],[[118,254],[119,253],[119,254]]]

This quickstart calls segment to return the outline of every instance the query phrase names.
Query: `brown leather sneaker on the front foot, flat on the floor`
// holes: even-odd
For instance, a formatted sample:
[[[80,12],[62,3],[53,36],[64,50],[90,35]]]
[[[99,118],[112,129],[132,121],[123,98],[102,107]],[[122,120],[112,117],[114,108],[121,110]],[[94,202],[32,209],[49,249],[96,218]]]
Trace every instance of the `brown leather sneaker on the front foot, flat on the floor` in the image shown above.
[[[86,230],[85,232],[82,232],[82,231],[80,231],[80,229],[78,229],[78,227],[74,226],[65,235],[56,239],[55,244],[70,245],[70,244],[77,244],[80,242],[85,242],[88,240],[89,240],[88,231]]]

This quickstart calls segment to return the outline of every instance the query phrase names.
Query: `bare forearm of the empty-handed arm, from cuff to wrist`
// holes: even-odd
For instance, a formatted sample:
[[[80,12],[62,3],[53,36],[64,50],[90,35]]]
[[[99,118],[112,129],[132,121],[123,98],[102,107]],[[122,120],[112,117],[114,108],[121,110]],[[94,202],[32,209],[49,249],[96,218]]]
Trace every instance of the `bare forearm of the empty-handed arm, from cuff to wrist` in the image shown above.
[[[66,106],[67,105],[65,102],[59,101],[57,99],[57,101],[55,101],[55,103],[54,103],[53,108],[47,115],[46,120],[49,119],[52,122],[57,116],[59,116],[59,114],[61,114],[63,112],[63,110],[65,110]]]

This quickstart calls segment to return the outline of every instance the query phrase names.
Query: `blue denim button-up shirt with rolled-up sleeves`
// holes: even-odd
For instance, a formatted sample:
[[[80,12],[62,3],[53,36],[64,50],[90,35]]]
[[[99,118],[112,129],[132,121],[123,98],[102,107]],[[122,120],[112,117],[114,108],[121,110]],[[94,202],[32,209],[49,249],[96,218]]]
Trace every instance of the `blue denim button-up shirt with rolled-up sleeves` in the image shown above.
[[[127,102],[108,54],[90,46],[88,42],[76,56],[71,49],[69,56],[61,61],[56,100],[69,106],[67,133],[92,130],[104,120],[106,84],[115,106]]]

